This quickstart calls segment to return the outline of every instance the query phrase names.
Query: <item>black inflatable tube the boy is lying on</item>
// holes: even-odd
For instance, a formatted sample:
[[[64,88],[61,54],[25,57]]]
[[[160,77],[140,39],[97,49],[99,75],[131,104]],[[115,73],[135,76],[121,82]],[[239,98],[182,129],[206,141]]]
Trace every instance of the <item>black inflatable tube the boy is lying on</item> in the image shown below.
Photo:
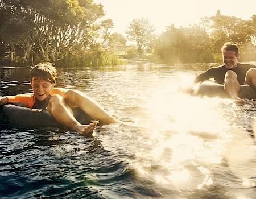
[[[77,121],[82,124],[91,122],[92,117],[79,108],[73,109]],[[39,109],[28,109],[15,105],[0,107],[0,123],[22,127],[64,127],[58,123],[49,112]]]

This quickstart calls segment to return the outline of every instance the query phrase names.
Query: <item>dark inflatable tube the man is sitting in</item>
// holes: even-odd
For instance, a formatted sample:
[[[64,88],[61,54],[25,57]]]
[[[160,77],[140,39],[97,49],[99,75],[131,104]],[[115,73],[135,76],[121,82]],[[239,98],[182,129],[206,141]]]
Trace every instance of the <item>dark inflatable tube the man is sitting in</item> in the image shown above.
[[[212,81],[204,81],[194,89],[194,94],[199,96],[228,98],[224,86]],[[247,99],[256,99],[256,89],[251,85],[240,85],[238,97]]]

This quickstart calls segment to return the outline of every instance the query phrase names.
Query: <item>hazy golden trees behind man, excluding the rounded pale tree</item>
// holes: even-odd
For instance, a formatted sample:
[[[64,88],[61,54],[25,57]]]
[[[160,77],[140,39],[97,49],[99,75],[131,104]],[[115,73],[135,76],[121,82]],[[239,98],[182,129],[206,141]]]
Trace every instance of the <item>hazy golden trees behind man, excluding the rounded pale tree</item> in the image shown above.
[[[256,61],[256,14],[242,20],[218,11],[189,28],[169,26],[155,40],[154,51],[163,63],[219,62],[225,42],[238,44],[241,61]]]

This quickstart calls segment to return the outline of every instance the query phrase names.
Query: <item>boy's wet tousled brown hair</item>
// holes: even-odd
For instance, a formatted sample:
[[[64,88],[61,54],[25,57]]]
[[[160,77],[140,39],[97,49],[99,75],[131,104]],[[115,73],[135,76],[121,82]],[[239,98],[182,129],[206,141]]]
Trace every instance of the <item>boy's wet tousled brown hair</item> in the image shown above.
[[[34,67],[31,67],[31,70],[30,70],[31,81],[33,77],[39,77],[55,84],[56,75],[57,75],[57,70],[55,68],[55,64],[52,64],[49,62],[36,64]]]

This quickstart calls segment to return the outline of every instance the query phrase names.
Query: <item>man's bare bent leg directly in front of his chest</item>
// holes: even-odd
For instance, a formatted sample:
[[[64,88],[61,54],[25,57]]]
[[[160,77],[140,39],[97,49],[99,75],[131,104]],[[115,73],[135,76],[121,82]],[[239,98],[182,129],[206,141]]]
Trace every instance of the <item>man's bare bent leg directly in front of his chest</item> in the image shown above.
[[[224,80],[224,90],[228,93],[229,97],[236,100],[241,100],[238,97],[240,90],[240,84],[237,81],[237,74],[233,71],[227,71]]]

